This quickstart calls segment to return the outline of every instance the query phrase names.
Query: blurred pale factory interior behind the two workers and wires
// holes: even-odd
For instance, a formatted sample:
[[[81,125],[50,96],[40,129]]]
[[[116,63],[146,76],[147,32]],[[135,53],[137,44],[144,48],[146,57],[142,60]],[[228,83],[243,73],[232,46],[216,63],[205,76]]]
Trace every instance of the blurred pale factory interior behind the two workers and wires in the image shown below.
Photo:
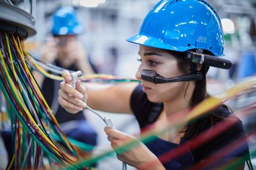
[[[73,6],[80,24],[84,27],[84,32],[79,35],[79,41],[82,42],[97,72],[135,78],[135,72],[140,64],[136,60],[138,46],[127,43],[126,38],[137,33],[144,16],[157,2],[158,0],[37,0],[34,13],[37,34],[26,39],[26,50],[40,58],[40,48],[46,43],[46,39],[51,37],[52,14],[60,7]],[[224,58],[233,62],[230,70],[210,68],[208,92],[215,95],[256,75],[256,1],[208,2],[221,18],[225,34]],[[26,10],[26,3],[19,0],[13,3]],[[237,100],[228,100],[226,103],[236,110],[255,101],[256,92],[252,90],[249,95],[242,95]],[[139,133],[138,124],[132,116],[102,114],[108,115],[117,129],[130,134]],[[98,148],[94,154],[110,149],[104,133],[105,124],[93,114],[87,113],[86,117],[98,132]],[[246,131],[255,128],[256,111],[244,118],[243,124]],[[255,139],[250,147],[255,149]],[[1,148],[0,156],[3,161],[0,165],[5,168],[7,156],[4,148]],[[252,161],[256,166],[255,158]],[[121,169],[121,162],[113,156],[101,160],[97,166],[98,169]]]

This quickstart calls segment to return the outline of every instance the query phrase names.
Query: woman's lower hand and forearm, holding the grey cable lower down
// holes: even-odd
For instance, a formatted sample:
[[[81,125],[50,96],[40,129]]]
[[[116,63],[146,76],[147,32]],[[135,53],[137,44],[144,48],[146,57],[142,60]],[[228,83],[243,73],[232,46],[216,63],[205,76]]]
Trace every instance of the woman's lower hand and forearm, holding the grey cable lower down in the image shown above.
[[[116,155],[119,160],[139,169],[141,169],[143,165],[147,163],[152,163],[152,166],[146,169],[165,169],[158,158],[151,151],[149,151],[149,149],[143,143],[138,141],[137,138],[107,126],[105,127],[104,131],[108,135],[107,138],[111,142],[112,148],[116,150]],[[119,146],[123,146],[124,144],[132,141],[135,143],[135,145],[132,144],[127,151],[123,153],[117,151]]]

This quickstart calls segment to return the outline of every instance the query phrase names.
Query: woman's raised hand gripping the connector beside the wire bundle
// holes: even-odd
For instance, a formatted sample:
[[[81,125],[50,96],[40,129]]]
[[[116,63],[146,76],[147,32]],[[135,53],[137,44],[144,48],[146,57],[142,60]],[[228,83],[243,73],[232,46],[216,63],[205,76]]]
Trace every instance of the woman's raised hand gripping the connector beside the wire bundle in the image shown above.
[[[76,89],[72,87],[72,77],[67,70],[62,72],[62,77],[58,101],[66,111],[76,114],[87,107],[87,91],[80,80],[77,80]]]

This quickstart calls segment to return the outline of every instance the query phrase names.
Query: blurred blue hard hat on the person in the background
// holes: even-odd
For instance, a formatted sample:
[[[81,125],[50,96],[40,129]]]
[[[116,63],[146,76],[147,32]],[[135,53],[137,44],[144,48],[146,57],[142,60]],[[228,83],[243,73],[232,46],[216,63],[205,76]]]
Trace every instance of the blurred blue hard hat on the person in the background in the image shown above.
[[[73,7],[62,7],[53,15],[53,35],[76,35],[83,32]]]

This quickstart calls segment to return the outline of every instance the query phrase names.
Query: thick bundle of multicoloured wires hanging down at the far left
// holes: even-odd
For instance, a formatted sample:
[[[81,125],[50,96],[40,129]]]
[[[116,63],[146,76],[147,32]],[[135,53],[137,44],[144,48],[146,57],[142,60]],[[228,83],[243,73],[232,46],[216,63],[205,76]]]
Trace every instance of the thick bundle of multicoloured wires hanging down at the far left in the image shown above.
[[[17,35],[0,31],[0,92],[7,101],[13,139],[7,169],[45,168],[45,157],[51,168],[73,165],[80,169],[75,165],[79,157],[76,148],[63,134],[44,100],[26,64],[21,43]],[[51,133],[60,138],[65,149],[54,143]]]

